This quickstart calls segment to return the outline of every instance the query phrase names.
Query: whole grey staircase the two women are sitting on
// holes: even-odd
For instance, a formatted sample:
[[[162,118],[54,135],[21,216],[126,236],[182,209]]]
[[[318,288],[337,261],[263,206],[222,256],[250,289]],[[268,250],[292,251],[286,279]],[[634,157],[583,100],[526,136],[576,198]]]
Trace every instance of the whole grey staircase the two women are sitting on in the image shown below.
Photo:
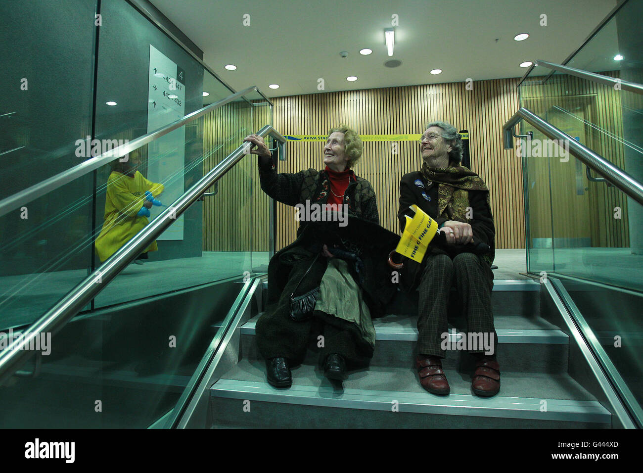
[[[568,374],[566,328],[541,309],[541,285],[532,280],[494,281],[493,310],[498,334],[500,393],[471,393],[471,356],[448,352],[443,360],[451,394],[422,389],[414,367],[417,295],[398,293],[377,333],[370,367],[331,382],[311,345],[303,364],[293,367],[293,385],[266,382],[257,351],[255,323],[240,326],[239,361],[210,387],[213,428],[610,428],[611,413]],[[265,300],[265,299],[264,299]],[[545,313],[543,313],[545,312]],[[449,331],[466,331],[449,317]],[[236,349],[236,348],[234,348]],[[339,409],[338,409],[339,408]]]

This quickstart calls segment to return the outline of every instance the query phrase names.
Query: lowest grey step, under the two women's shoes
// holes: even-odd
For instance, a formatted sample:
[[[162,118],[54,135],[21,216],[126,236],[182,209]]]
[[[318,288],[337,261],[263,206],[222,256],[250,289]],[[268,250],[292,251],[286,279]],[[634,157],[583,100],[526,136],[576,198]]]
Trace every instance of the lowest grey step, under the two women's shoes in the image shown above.
[[[563,374],[505,372],[493,398],[474,396],[468,376],[449,372],[451,394],[435,396],[413,369],[399,367],[354,371],[339,385],[302,365],[293,369],[289,389],[273,388],[265,376],[263,362],[242,360],[213,384],[213,427],[611,427],[609,411]]]

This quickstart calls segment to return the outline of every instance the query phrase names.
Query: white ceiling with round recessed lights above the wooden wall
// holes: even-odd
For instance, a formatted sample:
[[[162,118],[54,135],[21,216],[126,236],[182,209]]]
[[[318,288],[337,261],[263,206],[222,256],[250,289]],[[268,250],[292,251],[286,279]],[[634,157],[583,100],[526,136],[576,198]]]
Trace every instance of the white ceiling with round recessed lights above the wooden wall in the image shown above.
[[[562,62],[616,0],[151,0],[204,51],[203,60],[236,90],[268,97],[413,84],[521,77],[518,64]],[[244,26],[244,15],[250,26]],[[384,29],[395,27],[388,57]],[[541,14],[547,26],[540,26]],[[514,41],[529,33],[525,41]],[[496,39],[498,41],[496,41]],[[368,56],[359,54],[370,48]],[[340,51],[348,51],[342,59]],[[389,59],[401,66],[386,68]],[[236,71],[224,69],[235,64]],[[432,69],[442,69],[431,75]],[[346,77],[356,75],[356,82]],[[273,90],[268,84],[279,84]]]

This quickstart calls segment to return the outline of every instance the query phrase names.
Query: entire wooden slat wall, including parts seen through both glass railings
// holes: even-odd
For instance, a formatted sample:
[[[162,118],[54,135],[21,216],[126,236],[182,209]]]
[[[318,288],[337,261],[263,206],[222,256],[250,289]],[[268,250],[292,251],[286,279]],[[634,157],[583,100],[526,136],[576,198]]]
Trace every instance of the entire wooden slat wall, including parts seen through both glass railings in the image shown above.
[[[607,73],[617,77],[616,73]],[[538,79],[538,78],[532,78]],[[274,98],[275,128],[282,134],[327,134],[340,123],[360,134],[420,134],[432,120],[444,120],[470,134],[471,167],[491,190],[491,207],[496,223],[496,248],[524,248],[525,221],[521,160],[513,150],[502,146],[502,125],[520,106],[517,79],[473,82],[467,90],[462,82],[317,93]],[[525,106],[544,112],[552,105],[581,103],[584,119],[622,136],[620,94],[600,84],[564,77],[543,86],[521,87]],[[204,162],[212,169],[235,149],[246,134],[258,131],[269,122],[265,107],[245,102],[229,104],[203,120],[204,152],[224,144]],[[613,140],[584,130],[592,149],[624,168],[624,149]],[[417,171],[421,158],[414,142],[365,142],[364,154],[354,171],[370,181],[377,195],[383,227],[399,232],[397,222],[398,185],[406,172]],[[288,142],[288,159],[278,163],[279,172],[321,169],[322,142]],[[604,184],[586,183],[590,191],[576,196],[578,169],[574,158],[567,165],[554,165],[552,192],[557,211],[554,215],[556,237],[584,237],[593,246],[628,246],[627,200],[622,192]],[[583,179],[584,179],[584,170]],[[530,160],[530,174],[536,185],[530,189],[532,237],[552,235],[549,210],[550,165],[547,160]],[[566,205],[565,203],[570,203]],[[547,205],[544,205],[547,203]],[[242,162],[221,180],[219,195],[204,203],[204,250],[266,251],[269,246],[270,199],[261,192],[256,158]],[[623,219],[613,219],[614,207],[623,210]],[[294,241],[298,223],[294,209],[277,204],[276,248]]]

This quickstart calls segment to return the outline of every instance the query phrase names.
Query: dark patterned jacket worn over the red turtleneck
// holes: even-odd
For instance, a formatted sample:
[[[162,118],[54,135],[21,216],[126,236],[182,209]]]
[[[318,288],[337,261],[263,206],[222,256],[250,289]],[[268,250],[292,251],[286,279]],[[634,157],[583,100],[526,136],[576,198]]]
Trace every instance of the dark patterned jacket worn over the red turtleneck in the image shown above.
[[[375,192],[367,180],[356,176],[351,178],[344,193],[343,203],[349,206],[349,215],[358,216],[379,224]],[[331,181],[326,171],[307,169],[294,174],[277,174],[272,160],[266,164],[259,158],[261,189],[271,198],[285,205],[305,205],[306,201],[325,204],[331,192]],[[297,236],[300,236],[306,222],[300,222]]]

